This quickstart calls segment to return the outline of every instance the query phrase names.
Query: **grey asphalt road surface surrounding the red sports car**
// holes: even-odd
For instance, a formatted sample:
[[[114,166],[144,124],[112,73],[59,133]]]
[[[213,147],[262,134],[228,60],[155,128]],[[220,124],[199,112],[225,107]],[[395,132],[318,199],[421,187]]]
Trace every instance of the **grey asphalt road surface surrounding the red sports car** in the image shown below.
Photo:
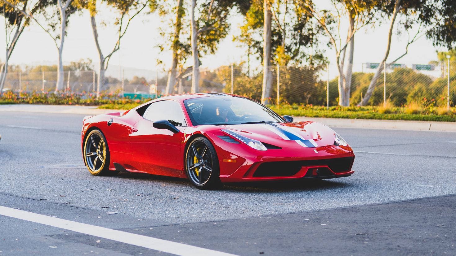
[[[199,191],[90,175],[82,118],[0,112],[0,206],[238,255],[456,255],[455,133],[338,128],[355,151],[351,177]],[[0,215],[0,255],[164,254],[98,240]]]

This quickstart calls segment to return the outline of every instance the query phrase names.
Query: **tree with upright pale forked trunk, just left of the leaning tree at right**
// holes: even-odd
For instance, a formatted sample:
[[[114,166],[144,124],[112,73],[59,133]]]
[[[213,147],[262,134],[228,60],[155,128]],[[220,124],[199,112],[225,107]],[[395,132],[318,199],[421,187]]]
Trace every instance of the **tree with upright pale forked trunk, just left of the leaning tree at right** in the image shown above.
[[[333,0],[333,10],[317,10],[313,1],[299,0],[302,10],[318,22],[329,37],[335,51],[337,65],[339,105],[350,105],[350,88],[352,83],[352,68],[355,33],[364,26],[376,20],[376,1],[362,0]],[[348,20],[348,31],[345,40],[341,36],[342,16]],[[334,28],[337,25],[337,28]],[[345,62],[347,60],[347,63]]]

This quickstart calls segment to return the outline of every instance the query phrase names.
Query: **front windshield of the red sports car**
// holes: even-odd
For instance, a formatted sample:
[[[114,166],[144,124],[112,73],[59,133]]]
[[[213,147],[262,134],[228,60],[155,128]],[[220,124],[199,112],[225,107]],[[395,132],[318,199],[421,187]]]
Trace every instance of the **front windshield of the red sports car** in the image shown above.
[[[193,125],[239,125],[284,120],[272,110],[237,96],[212,96],[184,100]]]

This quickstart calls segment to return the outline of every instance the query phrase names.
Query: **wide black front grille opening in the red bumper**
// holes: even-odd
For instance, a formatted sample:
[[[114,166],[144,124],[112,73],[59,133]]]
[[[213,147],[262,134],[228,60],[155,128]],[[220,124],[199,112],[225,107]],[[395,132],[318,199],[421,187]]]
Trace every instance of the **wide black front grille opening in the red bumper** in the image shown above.
[[[339,157],[320,160],[305,160],[305,161],[278,161],[265,162],[258,166],[254,172],[254,177],[272,177],[272,176],[293,176],[307,166],[328,166],[336,173],[350,171],[352,167],[353,157]],[[328,170],[329,171],[329,170]]]

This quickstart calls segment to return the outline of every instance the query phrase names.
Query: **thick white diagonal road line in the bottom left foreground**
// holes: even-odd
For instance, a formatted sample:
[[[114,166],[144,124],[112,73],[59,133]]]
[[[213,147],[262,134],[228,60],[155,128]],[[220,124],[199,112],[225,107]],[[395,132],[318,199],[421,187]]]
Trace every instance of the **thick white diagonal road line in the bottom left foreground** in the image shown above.
[[[233,254],[213,251],[210,249],[200,248],[197,246],[190,246],[177,242],[166,241],[150,236],[142,236],[129,232],[119,231],[115,229],[104,228],[100,226],[89,225],[76,221],[68,221],[56,217],[41,215],[30,211],[22,211],[14,208],[0,206],[0,215],[13,217],[20,220],[31,221],[48,226],[54,226],[62,229],[67,229],[90,236],[97,236],[113,241],[118,241],[134,246],[141,246],[144,248],[163,251],[180,256],[235,256]]]

